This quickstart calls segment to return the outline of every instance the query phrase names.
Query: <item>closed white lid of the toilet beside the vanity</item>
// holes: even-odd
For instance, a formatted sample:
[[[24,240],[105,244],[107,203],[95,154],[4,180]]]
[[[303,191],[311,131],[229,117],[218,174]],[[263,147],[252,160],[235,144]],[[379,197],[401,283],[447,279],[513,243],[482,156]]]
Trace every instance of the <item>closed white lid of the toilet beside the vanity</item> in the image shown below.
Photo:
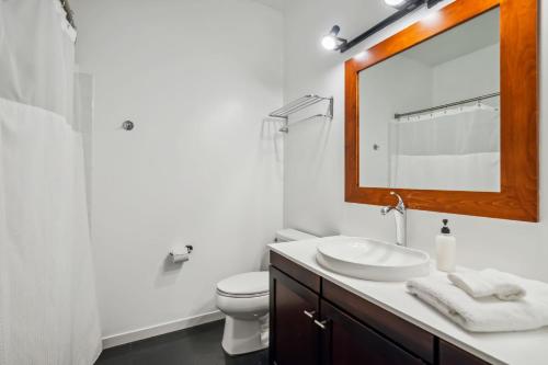
[[[227,277],[217,283],[217,290],[233,296],[269,294],[269,272],[243,273]]]

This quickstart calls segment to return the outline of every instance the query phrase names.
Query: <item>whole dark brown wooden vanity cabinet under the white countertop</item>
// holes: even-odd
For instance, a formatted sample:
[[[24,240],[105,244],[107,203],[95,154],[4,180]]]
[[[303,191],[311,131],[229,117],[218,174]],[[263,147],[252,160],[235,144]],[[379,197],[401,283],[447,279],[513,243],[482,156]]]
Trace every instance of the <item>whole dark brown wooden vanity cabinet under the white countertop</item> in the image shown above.
[[[487,364],[275,252],[270,275],[273,365]]]

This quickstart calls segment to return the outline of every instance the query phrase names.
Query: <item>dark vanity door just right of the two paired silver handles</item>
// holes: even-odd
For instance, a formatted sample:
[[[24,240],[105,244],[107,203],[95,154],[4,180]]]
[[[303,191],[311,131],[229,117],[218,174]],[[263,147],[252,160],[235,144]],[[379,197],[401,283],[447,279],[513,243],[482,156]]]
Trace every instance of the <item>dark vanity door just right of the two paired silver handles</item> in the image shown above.
[[[419,357],[343,313],[326,300],[321,300],[321,319],[322,364],[423,364]]]

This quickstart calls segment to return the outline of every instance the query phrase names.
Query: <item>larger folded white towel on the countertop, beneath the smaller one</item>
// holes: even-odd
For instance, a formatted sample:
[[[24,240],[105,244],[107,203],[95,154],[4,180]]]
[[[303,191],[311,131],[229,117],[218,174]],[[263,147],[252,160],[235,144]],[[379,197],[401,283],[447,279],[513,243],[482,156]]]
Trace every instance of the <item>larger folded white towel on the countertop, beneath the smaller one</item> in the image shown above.
[[[472,332],[524,331],[548,326],[548,284],[517,276],[514,280],[527,290],[526,297],[514,301],[492,296],[472,298],[444,274],[414,278],[407,286],[411,294]]]

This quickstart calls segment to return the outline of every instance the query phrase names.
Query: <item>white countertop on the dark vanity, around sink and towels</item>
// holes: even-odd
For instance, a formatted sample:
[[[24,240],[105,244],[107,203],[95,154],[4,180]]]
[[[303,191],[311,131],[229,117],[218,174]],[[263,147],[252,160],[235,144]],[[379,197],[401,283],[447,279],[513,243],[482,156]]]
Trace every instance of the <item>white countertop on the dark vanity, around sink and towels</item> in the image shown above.
[[[328,238],[272,243],[272,251],[330,280],[351,293],[493,364],[548,364],[548,328],[526,332],[468,332],[406,289],[406,283],[369,282],[330,272],[316,262],[317,246]],[[435,270],[433,275],[441,275]]]

